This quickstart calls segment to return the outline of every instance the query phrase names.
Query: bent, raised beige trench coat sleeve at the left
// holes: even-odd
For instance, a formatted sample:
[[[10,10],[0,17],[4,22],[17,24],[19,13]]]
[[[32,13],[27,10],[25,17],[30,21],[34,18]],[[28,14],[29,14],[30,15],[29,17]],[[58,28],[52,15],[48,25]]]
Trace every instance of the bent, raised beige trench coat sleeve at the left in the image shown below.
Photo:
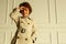
[[[20,10],[18,8],[14,8],[13,11],[10,13],[10,18],[18,23],[19,20],[19,15],[20,15]]]

